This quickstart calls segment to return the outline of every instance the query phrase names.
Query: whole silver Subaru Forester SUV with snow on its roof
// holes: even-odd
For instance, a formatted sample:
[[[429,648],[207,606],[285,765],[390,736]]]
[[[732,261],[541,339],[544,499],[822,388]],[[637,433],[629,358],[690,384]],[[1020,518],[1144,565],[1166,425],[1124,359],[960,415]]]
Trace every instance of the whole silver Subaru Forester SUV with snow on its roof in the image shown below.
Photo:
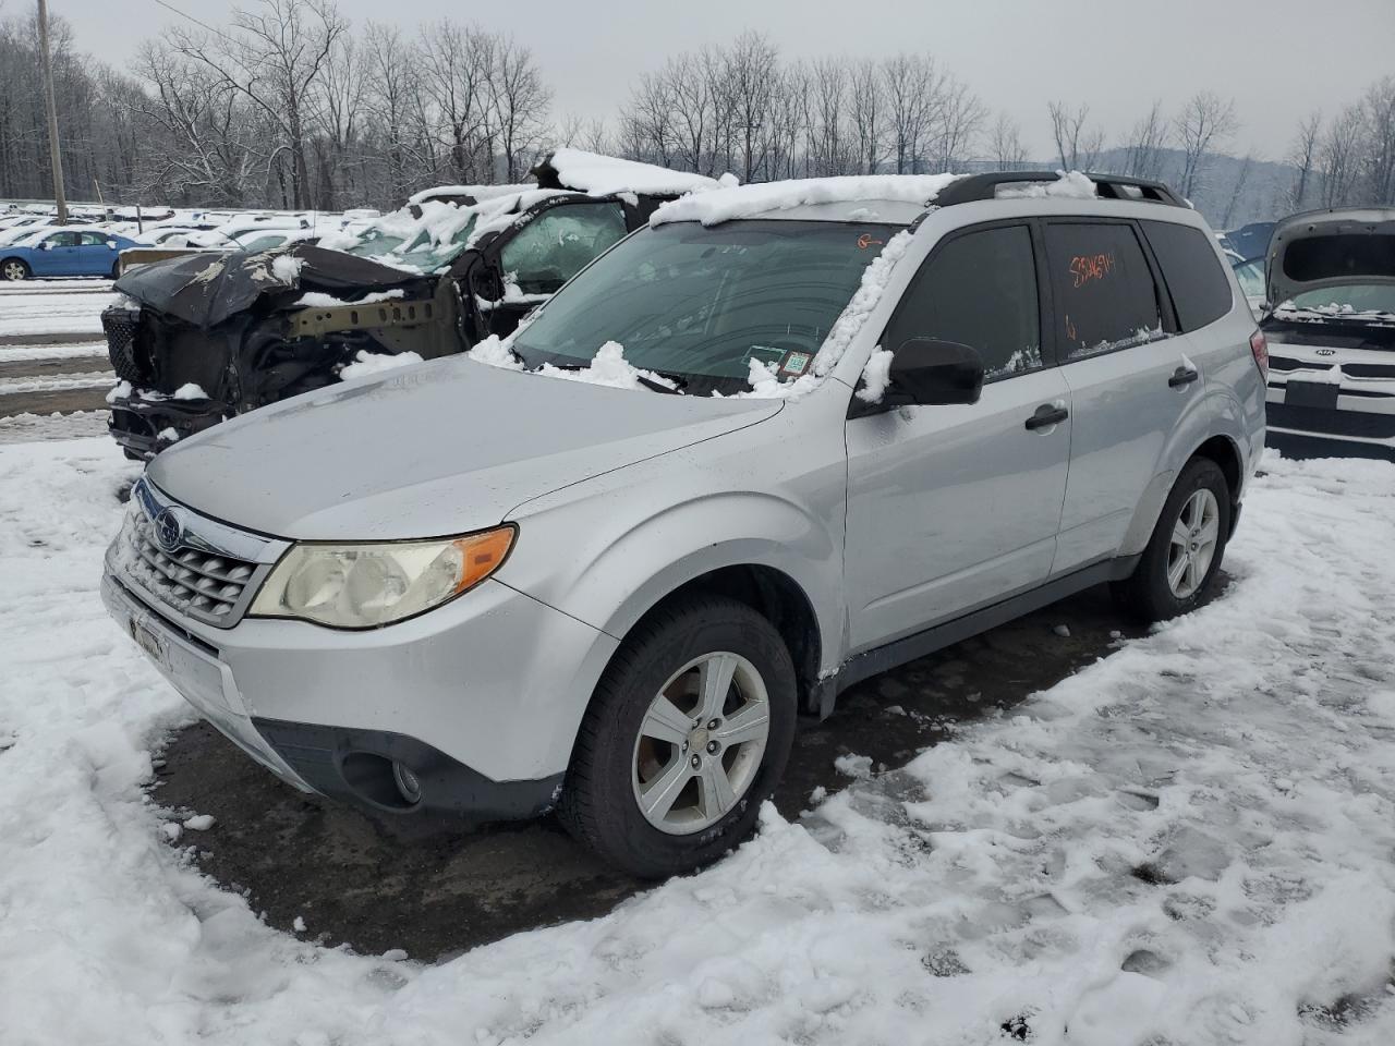
[[[1147,619],[1204,600],[1264,367],[1156,183],[723,188],[505,342],[160,455],[102,591],[296,788],[557,809],[664,876],[752,830],[854,682],[1099,583]]]

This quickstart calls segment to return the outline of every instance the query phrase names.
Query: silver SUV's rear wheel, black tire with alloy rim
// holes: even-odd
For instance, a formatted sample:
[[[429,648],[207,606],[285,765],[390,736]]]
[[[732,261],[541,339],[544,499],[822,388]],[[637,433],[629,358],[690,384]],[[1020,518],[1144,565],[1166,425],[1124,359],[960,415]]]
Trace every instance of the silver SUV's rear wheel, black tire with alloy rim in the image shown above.
[[[1119,607],[1144,622],[1189,614],[1215,584],[1230,536],[1230,485],[1209,457],[1193,457],[1158,515],[1133,575],[1110,586]]]

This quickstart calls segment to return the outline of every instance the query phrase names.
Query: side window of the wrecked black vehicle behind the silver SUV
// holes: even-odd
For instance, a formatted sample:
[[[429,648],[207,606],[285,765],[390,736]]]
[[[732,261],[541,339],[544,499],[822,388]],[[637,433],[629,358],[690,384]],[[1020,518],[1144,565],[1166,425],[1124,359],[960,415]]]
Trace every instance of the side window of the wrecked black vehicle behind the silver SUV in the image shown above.
[[[523,226],[499,252],[505,279],[525,294],[552,294],[625,236],[619,204],[565,204]]]

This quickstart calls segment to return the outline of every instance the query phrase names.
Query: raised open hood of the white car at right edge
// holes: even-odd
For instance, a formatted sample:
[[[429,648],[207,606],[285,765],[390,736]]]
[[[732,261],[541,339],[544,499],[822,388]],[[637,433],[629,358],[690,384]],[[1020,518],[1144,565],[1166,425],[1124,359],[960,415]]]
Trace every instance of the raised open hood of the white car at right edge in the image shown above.
[[[1395,286],[1395,208],[1286,218],[1274,229],[1264,269],[1272,303],[1325,287]]]

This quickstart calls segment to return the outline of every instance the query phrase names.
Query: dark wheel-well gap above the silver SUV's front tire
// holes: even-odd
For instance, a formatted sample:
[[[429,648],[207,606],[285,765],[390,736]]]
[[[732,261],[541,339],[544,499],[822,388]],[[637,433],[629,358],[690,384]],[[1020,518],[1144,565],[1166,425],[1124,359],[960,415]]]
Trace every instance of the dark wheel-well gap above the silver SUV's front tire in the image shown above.
[[[794,661],[799,700],[805,704],[819,678],[823,643],[813,602],[804,587],[784,570],[763,563],[735,563],[706,570],[660,597],[635,619],[628,632],[688,598],[710,594],[745,604],[774,626]]]

